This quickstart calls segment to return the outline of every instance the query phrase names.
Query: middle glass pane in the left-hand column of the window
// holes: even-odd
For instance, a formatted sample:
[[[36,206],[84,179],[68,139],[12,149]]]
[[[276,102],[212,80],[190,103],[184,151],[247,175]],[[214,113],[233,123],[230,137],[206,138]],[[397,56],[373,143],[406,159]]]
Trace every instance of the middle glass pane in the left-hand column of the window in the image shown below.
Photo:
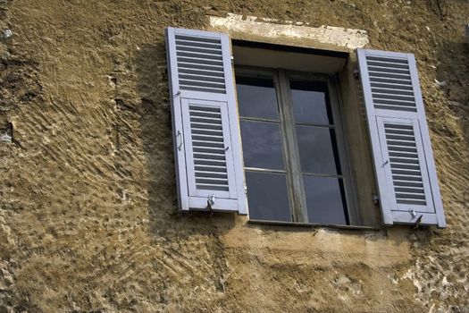
[[[283,170],[281,130],[278,123],[240,121],[244,165]]]

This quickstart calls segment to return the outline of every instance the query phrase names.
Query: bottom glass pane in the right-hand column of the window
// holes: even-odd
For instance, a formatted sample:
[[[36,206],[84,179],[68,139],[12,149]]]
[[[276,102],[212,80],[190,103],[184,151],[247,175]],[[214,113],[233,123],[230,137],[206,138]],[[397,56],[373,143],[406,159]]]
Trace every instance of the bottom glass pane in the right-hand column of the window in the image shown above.
[[[303,176],[309,223],[347,224],[341,179]]]

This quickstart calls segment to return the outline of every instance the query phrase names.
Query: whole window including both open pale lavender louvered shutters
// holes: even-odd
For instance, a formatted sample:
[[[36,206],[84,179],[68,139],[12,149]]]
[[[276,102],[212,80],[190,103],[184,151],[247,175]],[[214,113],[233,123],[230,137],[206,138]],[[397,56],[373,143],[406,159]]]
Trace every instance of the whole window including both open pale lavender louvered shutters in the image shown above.
[[[350,169],[361,173],[366,167],[374,177],[360,182],[377,187],[383,224],[446,226],[414,55],[357,49],[356,56],[346,54],[346,64],[347,58],[335,61],[344,55],[339,52],[306,49],[287,58],[244,49],[256,66],[270,63],[289,71],[237,69],[237,98],[227,34],[168,28],[166,39],[182,210],[238,212],[286,223],[359,224],[357,216],[372,215],[362,205],[373,193],[356,183],[355,201]],[[318,51],[336,57],[322,63]],[[350,93],[348,106],[341,107],[338,83],[353,84],[311,74],[316,72],[311,65],[321,69],[317,72],[346,72],[347,77],[357,66],[364,106]],[[360,144],[349,150],[355,156],[367,150],[373,163],[348,158],[341,108],[348,118],[364,109],[370,148]],[[347,127],[347,138],[355,132],[363,137],[362,125],[355,126]]]

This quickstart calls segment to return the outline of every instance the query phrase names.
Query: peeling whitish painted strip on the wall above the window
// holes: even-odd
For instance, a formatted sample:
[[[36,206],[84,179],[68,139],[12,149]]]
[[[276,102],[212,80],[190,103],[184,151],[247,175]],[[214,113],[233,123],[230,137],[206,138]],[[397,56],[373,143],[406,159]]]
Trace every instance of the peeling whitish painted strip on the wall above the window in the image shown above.
[[[242,32],[269,38],[306,38],[324,44],[356,49],[369,43],[366,30],[345,29],[322,25],[319,28],[309,27],[308,23],[260,19],[229,13],[227,17],[209,16],[210,26],[216,30]]]

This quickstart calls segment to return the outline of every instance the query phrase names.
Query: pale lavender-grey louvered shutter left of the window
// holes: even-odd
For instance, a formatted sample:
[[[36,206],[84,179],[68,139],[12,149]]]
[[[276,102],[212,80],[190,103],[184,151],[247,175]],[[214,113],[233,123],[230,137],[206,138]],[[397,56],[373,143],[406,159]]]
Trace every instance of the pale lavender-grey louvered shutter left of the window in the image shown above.
[[[168,28],[166,50],[180,208],[247,214],[228,35]]]

